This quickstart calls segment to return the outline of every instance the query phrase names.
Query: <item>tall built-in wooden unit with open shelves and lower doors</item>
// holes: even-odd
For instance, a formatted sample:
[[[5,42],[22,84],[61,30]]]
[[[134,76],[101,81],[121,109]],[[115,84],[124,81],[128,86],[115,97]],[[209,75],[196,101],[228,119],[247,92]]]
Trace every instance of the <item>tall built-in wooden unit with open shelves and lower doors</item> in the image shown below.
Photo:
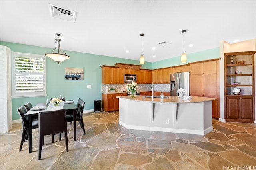
[[[254,123],[255,53],[224,53],[226,121]]]

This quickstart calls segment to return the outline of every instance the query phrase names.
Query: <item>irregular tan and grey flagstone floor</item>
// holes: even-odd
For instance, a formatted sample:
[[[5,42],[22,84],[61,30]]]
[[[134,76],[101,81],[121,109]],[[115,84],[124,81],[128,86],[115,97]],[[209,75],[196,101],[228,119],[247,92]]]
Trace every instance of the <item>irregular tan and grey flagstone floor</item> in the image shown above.
[[[19,152],[22,126],[14,124],[0,135],[1,170],[255,170],[256,124],[223,123],[213,119],[206,135],[129,130],[118,124],[118,112],[86,113],[84,125],[68,123],[68,147],[58,134],[45,137],[38,161],[38,129],[33,131],[33,152],[28,141]],[[78,123],[77,123],[78,124]]]

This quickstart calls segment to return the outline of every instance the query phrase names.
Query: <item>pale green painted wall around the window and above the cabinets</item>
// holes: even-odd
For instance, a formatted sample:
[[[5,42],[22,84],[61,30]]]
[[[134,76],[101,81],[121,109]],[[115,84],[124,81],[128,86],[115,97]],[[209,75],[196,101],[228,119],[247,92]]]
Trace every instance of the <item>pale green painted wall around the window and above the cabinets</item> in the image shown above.
[[[0,41],[0,45],[5,45],[11,51],[21,53],[42,54],[49,53],[53,49],[45,47],[37,47],[32,45],[24,45],[18,43],[9,43]],[[20,119],[17,108],[31,102],[34,106],[37,103],[45,102],[46,98],[58,97],[64,94],[66,100],[74,100],[82,98],[85,101],[84,110],[94,109],[94,100],[102,100],[101,84],[102,84],[102,69],[100,66],[114,66],[115,63],[126,63],[139,65],[139,61],[122,59],[117,57],[108,57],[102,55],[94,55],[88,53],[80,53],[75,51],[64,51],[70,56],[70,59],[58,64],[50,58],[46,58],[46,88],[47,96],[42,97],[26,97],[12,98],[12,120]],[[200,51],[197,53],[187,54],[187,62],[202,61],[219,57],[219,48]],[[180,56],[156,61],[154,63],[145,62],[141,66],[144,69],[156,69],[170,66],[178,66],[186,63],[180,63]],[[65,67],[84,68],[84,80],[65,80]],[[87,88],[91,85],[91,88]]]

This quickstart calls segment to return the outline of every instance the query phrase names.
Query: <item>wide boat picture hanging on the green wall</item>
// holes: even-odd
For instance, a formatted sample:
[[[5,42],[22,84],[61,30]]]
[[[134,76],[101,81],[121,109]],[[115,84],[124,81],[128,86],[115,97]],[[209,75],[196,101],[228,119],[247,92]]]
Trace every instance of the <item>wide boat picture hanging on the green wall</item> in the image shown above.
[[[84,80],[84,68],[65,67],[65,80]]]

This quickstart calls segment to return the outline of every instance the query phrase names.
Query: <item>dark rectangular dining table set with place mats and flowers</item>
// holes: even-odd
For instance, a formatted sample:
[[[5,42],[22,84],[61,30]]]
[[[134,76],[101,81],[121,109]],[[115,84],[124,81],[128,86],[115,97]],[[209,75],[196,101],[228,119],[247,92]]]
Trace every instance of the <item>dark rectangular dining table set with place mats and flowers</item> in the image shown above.
[[[73,125],[74,125],[74,141],[76,141],[76,104],[74,101],[65,101],[59,104],[58,106],[53,105],[47,105],[46,103],[38,103],[36,106],[30,109],[24,116],[28,118],[28,148],[29,153],[33,152],[33,141],[32,141],[32,119],[34,117],[38,117],[39,112],[43,111],[54,111],[54,110],[60,110],[60,109],[66,109],[67,111],[73,112]]]

